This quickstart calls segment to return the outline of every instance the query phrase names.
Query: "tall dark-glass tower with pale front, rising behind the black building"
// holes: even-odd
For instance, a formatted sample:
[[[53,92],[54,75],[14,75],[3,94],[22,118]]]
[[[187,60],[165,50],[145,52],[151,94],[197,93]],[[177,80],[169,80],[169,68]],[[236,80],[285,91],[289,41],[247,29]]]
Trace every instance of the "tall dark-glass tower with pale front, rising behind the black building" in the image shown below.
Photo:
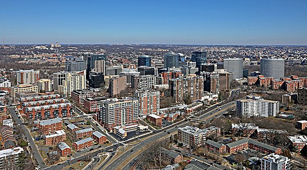
[[[103,61],[102,61],[103,60]],[[97,72],[105,72],[105,62],[106,55],[104,54],[92,54],[87,57],[87,72],[97,71]],[[98,62],[100,61],[100,62]],[[89,74],[86,75],[86,79],[88,80]]]

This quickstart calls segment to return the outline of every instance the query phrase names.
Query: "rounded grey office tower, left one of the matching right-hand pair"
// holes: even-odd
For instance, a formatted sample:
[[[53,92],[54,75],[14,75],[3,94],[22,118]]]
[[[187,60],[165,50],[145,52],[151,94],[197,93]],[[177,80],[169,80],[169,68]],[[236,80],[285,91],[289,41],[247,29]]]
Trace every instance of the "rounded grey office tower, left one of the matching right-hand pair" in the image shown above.
[[[224,59],[224,69],[233,73],[233,79],[241,79],[243,77],[243,60],[240,58]]]

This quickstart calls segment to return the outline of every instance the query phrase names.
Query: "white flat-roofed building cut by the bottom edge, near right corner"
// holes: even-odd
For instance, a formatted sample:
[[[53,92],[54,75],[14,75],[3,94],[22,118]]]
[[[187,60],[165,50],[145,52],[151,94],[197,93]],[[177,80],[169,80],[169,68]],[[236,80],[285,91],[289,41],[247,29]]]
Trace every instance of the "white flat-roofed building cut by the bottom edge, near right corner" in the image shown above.
[[[270,154],[261,158],[261,170],[290,170],[292,168],[291,160],[278,154]]]

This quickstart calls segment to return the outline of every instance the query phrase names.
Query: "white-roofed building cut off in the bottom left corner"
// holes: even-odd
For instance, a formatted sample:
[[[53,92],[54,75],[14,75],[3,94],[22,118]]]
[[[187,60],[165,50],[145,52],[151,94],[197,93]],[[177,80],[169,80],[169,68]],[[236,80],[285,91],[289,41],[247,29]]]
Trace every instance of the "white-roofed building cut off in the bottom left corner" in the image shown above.
[[[0,169],[15,169],[20,170],[17,167],[19,154],[24,152],[21,147],[6,149],[0,151]]]

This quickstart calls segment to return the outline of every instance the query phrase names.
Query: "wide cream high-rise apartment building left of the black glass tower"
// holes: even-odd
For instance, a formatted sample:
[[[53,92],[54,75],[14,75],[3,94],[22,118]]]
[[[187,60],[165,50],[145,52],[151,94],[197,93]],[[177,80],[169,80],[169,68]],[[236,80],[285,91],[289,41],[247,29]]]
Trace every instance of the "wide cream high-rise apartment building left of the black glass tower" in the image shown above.
[[[53,74],[54,91],[62,96],[71,96],[74,90],[86,88],[85,70],[79,72],[55,72]]]

